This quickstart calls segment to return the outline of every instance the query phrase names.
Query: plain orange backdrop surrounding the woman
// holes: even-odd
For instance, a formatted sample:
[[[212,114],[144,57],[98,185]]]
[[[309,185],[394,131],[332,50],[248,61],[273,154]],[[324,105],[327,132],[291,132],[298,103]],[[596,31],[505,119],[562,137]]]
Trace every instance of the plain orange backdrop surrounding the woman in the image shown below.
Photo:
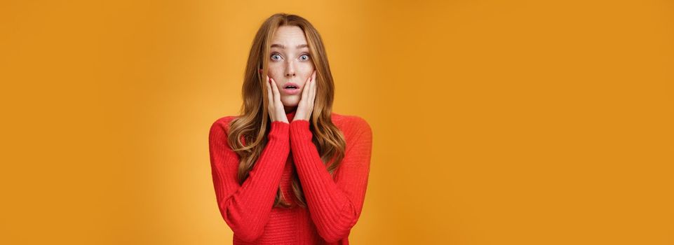
[[[674,244],[672,1],[3,1],[2,244],[230,244],[208,129],[262,21],[374,135],[353,244]]]

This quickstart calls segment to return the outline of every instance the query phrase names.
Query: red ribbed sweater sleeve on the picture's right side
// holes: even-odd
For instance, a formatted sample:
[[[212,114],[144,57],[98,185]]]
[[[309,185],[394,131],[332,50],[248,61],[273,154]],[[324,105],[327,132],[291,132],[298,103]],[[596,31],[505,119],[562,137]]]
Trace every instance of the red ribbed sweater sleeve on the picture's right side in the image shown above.
[[[362,118],[353,118],[347,126],[351,137],[346,138],[346,153],[334,181],[311,141],[313,134],[309,130],[309,121],[293,120],[290,123],[290,149],[311,219],[318,235],[328,242],[349,235],[360,217],[368,186],[372,130]]]

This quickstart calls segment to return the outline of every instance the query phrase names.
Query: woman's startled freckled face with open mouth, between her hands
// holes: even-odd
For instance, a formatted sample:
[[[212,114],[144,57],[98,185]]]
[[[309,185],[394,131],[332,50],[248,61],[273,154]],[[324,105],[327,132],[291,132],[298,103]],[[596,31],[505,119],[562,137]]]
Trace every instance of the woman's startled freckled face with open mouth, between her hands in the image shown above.
[[[307,45],[304,31],[297,26],[278,27],[271,38],[269,77],[276,82],[286,109],[299,104],[304,83],[314,72],[314,61]],[[295,83],[297,90],[286,90],[289,83]]]

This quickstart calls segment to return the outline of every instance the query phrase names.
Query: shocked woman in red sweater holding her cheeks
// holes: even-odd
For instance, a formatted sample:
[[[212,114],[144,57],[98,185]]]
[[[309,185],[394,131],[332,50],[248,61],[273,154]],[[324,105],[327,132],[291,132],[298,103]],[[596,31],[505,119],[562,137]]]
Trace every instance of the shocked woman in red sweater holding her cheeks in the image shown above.
[[[278,13],[257,31],[240,116],[210,128],[210,163],[234,244],[349,244],[368,186],[372,130],[332,113],[318,31]]]

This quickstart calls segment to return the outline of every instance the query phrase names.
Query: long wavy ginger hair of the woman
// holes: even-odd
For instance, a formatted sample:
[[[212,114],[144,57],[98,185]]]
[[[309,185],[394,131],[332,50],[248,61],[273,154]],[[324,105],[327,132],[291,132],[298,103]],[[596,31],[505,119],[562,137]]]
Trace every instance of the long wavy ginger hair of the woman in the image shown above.
[[[346,141],[342,132],[332,123],[332,100],[335,97],[335,85],[330,73],[328,56],[325,53],[323,40],[309,21],[298,15],[276,13],[262,23],[252,41],[248,63],[243,78],[243,105],[241,115],[231,121],[227,141],[229,146],[240,157],[238,165],[238,183],[243,185],[248,179],[248,172],[255,166],[264,146],[267,146],[267,134],[271,130],[271,118],[267,111],[267,89],[264,87],[264,74],[267,74],[269,64],[269,50],[271,38],[278,27],[289,25],[297,26],[304,31],[311,59],[316,68],[316,98],[314,111],[311,114],[309,130],[314,134],[311,141],[318,149],[321,160],[326,169],[333,175],[335,169],[344,158]],[[262,69],[262,73],[260,73]],[[250,143],[250,144],[247,144]],[[299,183],[297,172],[292,176],[292,191],[299,207],[306,207],[302,186]],[[274,207],[291,207],[287,202],[281,187],[276,193]]]

